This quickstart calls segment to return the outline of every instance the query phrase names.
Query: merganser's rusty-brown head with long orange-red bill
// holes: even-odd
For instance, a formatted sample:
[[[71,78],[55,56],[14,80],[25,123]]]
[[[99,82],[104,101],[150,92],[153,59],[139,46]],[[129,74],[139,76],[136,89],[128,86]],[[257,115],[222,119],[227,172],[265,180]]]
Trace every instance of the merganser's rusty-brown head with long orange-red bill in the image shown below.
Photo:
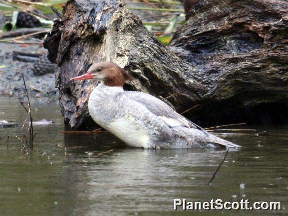
[[[102,61],[92,64],[87,73],[71,78],[71,81],[76,80],[101,80],[106,86],[123,86],[125,81],[133,80],[133,77],[128,74],[128,71],[119,67],[113,62]]]

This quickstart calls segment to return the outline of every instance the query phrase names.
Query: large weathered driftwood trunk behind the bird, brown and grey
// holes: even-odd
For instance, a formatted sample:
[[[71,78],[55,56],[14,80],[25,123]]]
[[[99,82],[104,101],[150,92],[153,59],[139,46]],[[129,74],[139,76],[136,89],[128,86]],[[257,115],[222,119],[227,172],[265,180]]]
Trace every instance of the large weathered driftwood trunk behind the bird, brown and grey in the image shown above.
[[[66,124],[93,125],[87,101],[97,81],[69,79],[102,60],[136,78],[125,89],[167,98],[179,113],[195,107],[185,113],[193,121],[247,122],[242,117],[247,107],[286,107],[287,5],[211,0],[189,7],[187,23],[166,47],[121,1],[68,1],[44,43],[48,58],[58,64],[56,87]]]

